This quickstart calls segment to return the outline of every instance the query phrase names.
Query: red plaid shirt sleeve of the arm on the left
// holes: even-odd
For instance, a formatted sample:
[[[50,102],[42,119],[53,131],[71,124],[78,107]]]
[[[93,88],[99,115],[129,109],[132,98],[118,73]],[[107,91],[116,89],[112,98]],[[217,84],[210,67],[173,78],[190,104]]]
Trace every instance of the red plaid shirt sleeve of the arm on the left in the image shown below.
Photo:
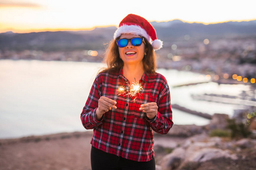
[[[94,129],[102,124],[104,115],[102,116],[100,121],[96,119],[96,109],[98,108],[98,100],[100,99],[100,96],[101,92],[97,76],[94,80],[88,99],[85,103],[84,108],[82,109],[82,113],[80,116],[82,125],[85,129]]]

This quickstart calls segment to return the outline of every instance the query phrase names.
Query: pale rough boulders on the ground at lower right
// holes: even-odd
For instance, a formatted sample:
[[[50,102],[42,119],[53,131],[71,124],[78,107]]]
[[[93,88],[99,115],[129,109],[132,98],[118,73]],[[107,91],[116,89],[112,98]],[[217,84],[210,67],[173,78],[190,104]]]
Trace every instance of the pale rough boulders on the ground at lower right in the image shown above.
[[[174,148],[170,154],[158,158],[159,170],[170,169],[244,169],[253,170],[256,165],[256,140],[231,140],[194,135]]]

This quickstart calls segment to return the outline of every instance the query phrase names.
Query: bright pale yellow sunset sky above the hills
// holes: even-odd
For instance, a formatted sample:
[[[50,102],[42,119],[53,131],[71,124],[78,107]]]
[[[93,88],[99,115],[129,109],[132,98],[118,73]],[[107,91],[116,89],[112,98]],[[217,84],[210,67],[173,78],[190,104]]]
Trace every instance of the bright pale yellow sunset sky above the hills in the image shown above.
[[[84,30],[117,26],[127,14],[164,22],[255,20],[255,0],[0,0],[0,32]]]

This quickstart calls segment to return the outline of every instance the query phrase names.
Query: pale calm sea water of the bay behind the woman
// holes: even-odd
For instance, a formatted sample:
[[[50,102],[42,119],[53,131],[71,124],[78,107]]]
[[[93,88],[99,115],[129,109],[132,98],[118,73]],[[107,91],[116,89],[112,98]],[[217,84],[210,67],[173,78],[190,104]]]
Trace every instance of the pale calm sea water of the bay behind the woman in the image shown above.
[[[102,63],[0,60],[0,138],[83,131],[80,114]],[[171,104],[208,114],[233,115],[241,106],[192,99],[192,94],[239,95],[249,86],[208,82],[187,71],[158,69],[170,86]],[[202,79],[203,78],[203,79]],[[206,125],[209,120],[172,109],[177,125]]]

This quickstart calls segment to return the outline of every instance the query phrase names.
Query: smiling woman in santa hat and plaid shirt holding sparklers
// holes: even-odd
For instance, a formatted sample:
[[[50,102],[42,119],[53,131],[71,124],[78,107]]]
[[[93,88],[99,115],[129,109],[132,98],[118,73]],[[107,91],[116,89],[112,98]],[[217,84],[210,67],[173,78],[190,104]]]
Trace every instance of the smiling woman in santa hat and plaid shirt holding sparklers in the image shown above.
[[[152,41],[152,44],[151,44]],[[92,169],[155,169],[152,130],[171,129],[170,91],[155,72],[154,50],[162,47],[152,25],[129,14],[119,24],[106,63],[81,113],[93,129]]]

